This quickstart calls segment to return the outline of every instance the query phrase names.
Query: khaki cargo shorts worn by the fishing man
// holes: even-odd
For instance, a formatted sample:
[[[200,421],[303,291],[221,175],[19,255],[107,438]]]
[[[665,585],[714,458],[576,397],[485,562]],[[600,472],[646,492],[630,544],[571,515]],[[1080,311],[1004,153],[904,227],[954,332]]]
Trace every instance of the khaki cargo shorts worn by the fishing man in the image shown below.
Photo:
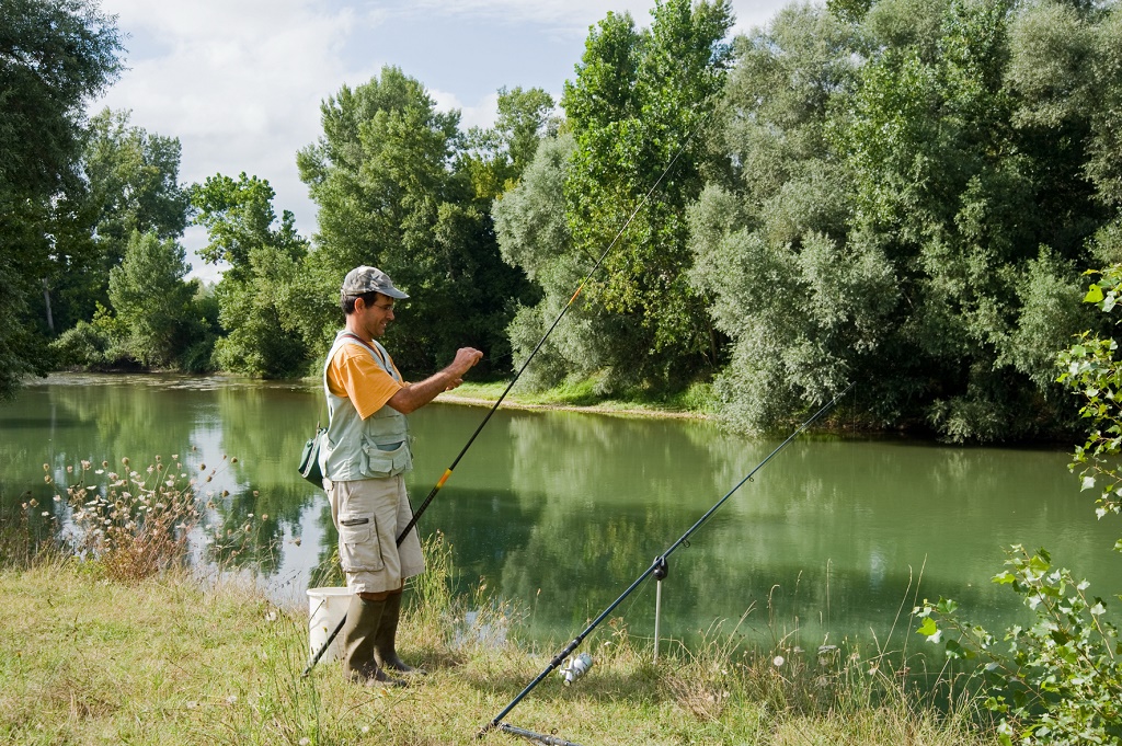
[[[417,529],[397,546],[397,534],[413,517],[401,476],[328,481],[331,519],[339,529],[339,560],[355,593],[397,590],[424,572]]]

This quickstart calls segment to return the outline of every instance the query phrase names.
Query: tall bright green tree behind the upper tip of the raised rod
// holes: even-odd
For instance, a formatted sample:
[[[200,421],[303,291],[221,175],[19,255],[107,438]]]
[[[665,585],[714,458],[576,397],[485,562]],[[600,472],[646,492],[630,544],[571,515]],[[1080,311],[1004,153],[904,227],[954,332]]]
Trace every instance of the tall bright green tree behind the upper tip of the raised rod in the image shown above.
[[[650,29],[635,31],[629,16],[609,15],[565,85],[562,105],[578,145],[565,200],[577,250],[595,257],[651,193],[590,297],[634,330],[619,340],[617,374],[665,384],[688,380],[706,356],[717,363],[707,302],[687,282],[686,209],[703,184],[698,130],[723,88],[733,18],[723,0],[666,0],[651,16]]]

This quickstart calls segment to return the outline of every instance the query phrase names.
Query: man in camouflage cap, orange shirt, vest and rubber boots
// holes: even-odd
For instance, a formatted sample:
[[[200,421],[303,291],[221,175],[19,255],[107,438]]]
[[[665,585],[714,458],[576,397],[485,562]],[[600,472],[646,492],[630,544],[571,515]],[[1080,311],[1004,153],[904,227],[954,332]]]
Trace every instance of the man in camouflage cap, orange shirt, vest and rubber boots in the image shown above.
[[[375,267],[356,267],[343,279],[339,304],[346,328],[335,335],[323,369],[328,434],[323,486],[339,529],[339,560],[350,588],[342,628],[343,671],[356,682],[404,687],[387,671],[424,673],[397,656],[395,638],[405,580],[424,572],[404,473],[413,468],[405,415],[456,388],[482,352],[461,348],[447,368],[408,384],[378,340],[408,295]]]

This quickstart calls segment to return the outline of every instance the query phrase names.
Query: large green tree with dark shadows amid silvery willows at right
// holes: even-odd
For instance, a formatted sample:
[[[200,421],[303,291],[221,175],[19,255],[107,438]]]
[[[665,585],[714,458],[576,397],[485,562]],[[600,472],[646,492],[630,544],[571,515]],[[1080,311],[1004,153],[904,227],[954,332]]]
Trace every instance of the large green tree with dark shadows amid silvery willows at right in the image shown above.
[[[903,408],[922,392],[928,423],[950,440],[1026,438],[1063,421],[1050,356],[1037,351],[1083,323],[1076,267],[1102,220],[1078,167],[1084,138],[1021,126],[1006,76],[1021,52],[1015,24],[1009,3],[951,2],[937,56],[881,54],[837,130],[854,223],[882,237],[911,304],[903,333],[884,340],[885,352],[911,352],[885,399]]]

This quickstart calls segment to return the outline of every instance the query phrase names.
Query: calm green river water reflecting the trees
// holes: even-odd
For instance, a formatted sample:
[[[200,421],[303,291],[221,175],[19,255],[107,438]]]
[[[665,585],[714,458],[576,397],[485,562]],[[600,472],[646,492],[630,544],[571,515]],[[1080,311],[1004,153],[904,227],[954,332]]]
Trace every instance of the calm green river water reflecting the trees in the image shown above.
[[[160,376],[55,376],[0,404],[3,515],[34,497],[33,527],[56,480],[86,459],[134,467],[177,454],[196,472],[221,464],[210,519],[252,542],[224,567],[257,573],[298,600],[334,533],[322,491],[295,472],[324,416],[307,387]],[[434,404],[410,417],[414,505],[429,494],[486,414]],[[677,420],[499,411],[421,521],[454,550],[459,586],[479,582],[524,614],[518,634],[571,638],[779,444]],[[223,462],[223,457],[227,460]],[[230,457],[237,457],[232,463]],[[670,558],[662,634],[695,641],[730,630],[802,646],[843,638],[918,646],[907,618],[918,597],[953,597],[972,618],[1023,617],[990,582],[1002,546],[1046,545],[1057,563],[1118,592],[1111,551],[1122,524],[1096,522],[1061,450],[963,449],[909,441],[802,439],[736,491]],[[228,496],[222,497],[221,491]],[[254,518],[248,518],[249,514]],[[261,516],[268,517],[261,521]],[[214,559],[200,546],[199,562]],[[654,582],[615,609],[650,635]],[[900,620],[893,621],[903,608]]]

